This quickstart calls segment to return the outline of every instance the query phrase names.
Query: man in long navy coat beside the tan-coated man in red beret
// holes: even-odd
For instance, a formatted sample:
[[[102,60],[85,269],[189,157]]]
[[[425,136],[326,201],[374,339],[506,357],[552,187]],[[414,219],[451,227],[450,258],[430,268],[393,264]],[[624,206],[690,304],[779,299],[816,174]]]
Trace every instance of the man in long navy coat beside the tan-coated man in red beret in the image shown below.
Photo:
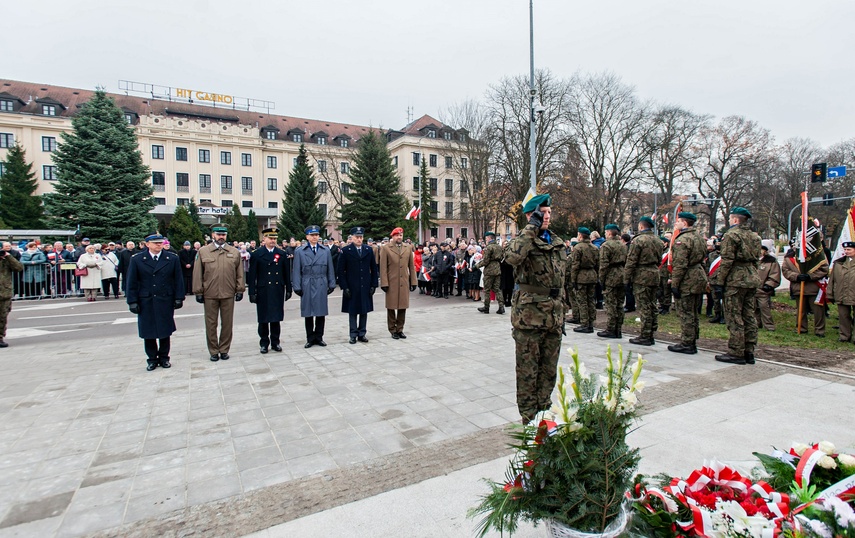
[[[342,289],[341,311],[350,317],[350,343],[368,342],[365,337],[368,313],[374,311],[378,268],[374,252],[362,246],[365,229],[350,230],[353,242],[341,250],[337,265],[337,280]]]

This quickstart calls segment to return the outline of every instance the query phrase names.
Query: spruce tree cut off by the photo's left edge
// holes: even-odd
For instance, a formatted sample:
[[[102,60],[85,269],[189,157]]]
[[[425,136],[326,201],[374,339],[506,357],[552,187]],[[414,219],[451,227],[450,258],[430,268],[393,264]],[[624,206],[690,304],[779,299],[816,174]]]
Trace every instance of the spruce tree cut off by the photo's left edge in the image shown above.
[[[38,180],[20,144],[9,149],[5,166],[0,177],[0,220],[14,230],[44,228],[42,198],[34,194]]]

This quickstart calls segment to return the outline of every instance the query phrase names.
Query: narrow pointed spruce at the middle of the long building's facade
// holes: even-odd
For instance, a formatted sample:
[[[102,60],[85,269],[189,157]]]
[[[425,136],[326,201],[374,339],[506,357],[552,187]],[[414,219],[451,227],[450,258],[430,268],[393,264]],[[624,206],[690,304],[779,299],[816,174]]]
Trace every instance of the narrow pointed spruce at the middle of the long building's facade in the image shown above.
[[[305,237],[306,227],[316,224],[324,230],[324,213],[318,207],[321,195],[315,185],[315,174],[306,155],[306,147],[300,144],[297,166],[288,174],[288,186],[282,198],[279,213],[280,237]]]

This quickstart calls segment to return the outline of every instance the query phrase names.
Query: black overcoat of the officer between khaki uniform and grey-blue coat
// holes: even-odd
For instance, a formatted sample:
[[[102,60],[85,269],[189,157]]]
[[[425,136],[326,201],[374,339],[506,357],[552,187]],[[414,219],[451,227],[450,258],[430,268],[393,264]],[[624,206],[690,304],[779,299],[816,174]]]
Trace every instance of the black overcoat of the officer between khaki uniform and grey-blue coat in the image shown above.
[[[285,318],[285,292],[291,293],[291,260],[284,250],[261,246],[249,255],[246,284],[255,295],[259,323],[275,323]]]

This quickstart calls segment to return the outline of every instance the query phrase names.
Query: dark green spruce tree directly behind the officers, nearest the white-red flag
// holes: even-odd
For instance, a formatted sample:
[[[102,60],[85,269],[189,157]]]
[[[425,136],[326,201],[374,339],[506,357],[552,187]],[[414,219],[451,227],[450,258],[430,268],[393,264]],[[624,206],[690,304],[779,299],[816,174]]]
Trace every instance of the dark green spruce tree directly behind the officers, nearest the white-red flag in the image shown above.
[[[388,236],[409,210],[383,138],[374,131],[359,140],[350,172],[350,195],[342,205],[342,230],[365,228],[366,237]]]

